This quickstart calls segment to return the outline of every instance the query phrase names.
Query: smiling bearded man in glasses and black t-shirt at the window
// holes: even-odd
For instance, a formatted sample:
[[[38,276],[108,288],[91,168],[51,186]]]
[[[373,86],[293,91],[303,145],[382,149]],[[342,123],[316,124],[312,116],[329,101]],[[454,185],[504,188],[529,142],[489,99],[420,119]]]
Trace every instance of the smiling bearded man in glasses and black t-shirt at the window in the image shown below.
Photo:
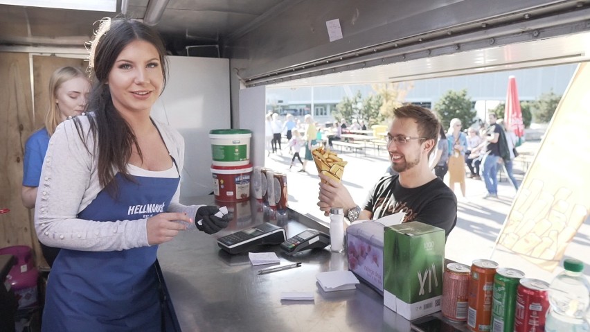
[[[429,168],[439,130],[440,121],[430,110],[415,105],[395,109],[386,139],[391,168],[397,174],[379,179],[362,209],[343,184],[320,174],[318,206],[322,211],[342,207],[350,222],[403,211],[403,222],[424,222],[445,229],[449,236],[457,222],[457,198]]]

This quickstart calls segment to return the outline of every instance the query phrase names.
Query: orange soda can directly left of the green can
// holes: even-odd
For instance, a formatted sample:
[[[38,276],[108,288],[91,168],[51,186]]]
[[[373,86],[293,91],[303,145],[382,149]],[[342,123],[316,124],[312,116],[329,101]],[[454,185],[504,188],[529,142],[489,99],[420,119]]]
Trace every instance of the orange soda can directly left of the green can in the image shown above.
[[[474,332],[489,332],[492,328],[492,292],[498,263],[476,259],[471,265],[467,326]]]

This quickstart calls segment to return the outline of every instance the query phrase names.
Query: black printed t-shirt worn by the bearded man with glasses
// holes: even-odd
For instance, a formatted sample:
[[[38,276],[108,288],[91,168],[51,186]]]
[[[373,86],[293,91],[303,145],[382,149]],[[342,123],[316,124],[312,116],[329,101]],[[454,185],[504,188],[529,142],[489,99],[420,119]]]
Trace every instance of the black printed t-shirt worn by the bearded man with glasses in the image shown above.
[[[445,229],[447,236],[457,223],[457,198],[438,177],[408,189],[399,175],[385,175],[368,193],[364,209],[373,212],[373,219],[403,211],[403,222],[424,222]]]

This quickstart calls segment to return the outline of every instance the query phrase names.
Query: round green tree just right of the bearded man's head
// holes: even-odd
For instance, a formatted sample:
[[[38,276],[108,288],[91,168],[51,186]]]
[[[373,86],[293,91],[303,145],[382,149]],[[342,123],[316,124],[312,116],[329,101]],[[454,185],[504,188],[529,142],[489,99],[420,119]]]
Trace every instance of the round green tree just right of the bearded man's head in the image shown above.
[[[434,112],[438,114],[442,128],[447,130],[451,120],[461,120],[463,128],[472,125],[476,120],[476,111],[470,98],[467,97],[467,89],[461,91],[449,90],[444,94],[438,103],[434,105]]]

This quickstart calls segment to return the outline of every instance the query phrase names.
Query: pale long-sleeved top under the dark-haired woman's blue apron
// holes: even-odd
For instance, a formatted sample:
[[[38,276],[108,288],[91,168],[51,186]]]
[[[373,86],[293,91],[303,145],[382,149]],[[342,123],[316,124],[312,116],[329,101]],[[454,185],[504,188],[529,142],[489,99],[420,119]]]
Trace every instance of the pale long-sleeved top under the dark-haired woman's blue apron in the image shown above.
[[[35,230],[39,241],[51,247],[82,251],[148,246],[147,218],[98,222],[77,217],[102,190],[98,182],[98,155],[95,155],[98,152],[94,151],[95,141],[88,134],[89,121],[87,116],[78,116],[78,119],[82,123],[84,137],[88,137],[89,149],[80,139],[73,120],[58,125],[49,141],[35,203]],[[181,173],[184,139],[168,125],[154,122]],[[179,195],[180,184],[168,211],[195,216],[201,205],[179,204]],[[191,225],[191,228],[196,228]]]

